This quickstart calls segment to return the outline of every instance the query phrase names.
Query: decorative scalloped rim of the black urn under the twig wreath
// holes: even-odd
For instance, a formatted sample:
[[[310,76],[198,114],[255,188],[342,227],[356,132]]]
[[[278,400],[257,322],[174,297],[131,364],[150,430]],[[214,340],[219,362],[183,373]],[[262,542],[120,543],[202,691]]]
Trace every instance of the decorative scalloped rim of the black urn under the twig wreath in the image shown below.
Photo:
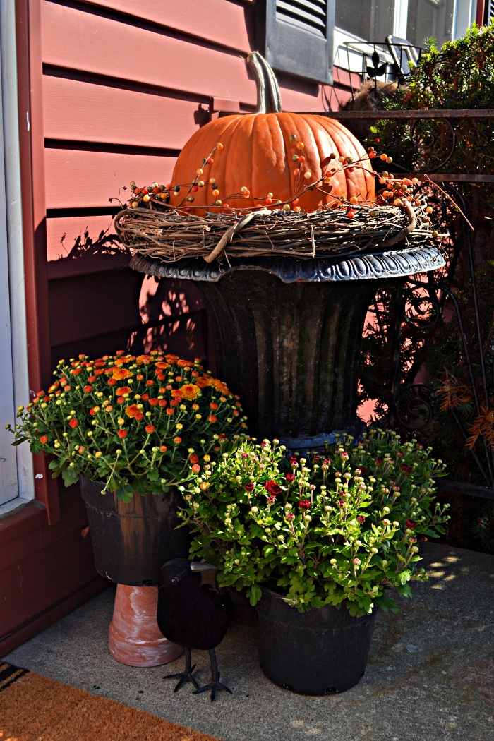
[[[440,247],[404,247],[389,252],[359,253],[336,257],[296,259],[293,257],[230,258],[227,264],[207,263],[202,258],[184,258],[162,262],[136,253],[130,268],[138,273],[194,281],[217,282],[238,270],[262,270],[284,283],[347,282],[405,278],[416,273],[443,268],[446,264]]]

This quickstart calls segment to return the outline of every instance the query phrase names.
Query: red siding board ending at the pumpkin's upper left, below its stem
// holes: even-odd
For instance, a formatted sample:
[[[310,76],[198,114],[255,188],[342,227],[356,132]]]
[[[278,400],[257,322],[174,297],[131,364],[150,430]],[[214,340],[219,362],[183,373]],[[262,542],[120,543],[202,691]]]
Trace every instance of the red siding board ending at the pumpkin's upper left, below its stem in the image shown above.
[[[207,118],[199,101],[44,75],[44,136],[181,149]]]

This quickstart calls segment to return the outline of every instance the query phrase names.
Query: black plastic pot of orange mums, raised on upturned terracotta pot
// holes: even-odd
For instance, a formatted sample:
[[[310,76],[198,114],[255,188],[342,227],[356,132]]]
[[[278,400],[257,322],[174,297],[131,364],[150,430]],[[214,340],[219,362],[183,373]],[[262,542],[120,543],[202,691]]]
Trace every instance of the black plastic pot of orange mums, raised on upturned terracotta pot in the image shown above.
[[[101,494],[104,484],[81,476],[96,571],[117,584],[142,587],[158,584],[161,566],[187,558],[190,534],[178,528],[183,499],[176,488],[163,494],[134,494],[121,502],[115,492]]]

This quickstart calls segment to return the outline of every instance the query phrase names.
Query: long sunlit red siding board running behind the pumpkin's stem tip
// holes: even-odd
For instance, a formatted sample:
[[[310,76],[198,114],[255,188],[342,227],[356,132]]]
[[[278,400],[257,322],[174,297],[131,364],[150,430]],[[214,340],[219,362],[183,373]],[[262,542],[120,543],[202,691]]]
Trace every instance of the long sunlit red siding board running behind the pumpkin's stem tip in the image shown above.
[[[211,48],[206,41],[187,41],[47,0],[42,4],[42,23],[44,64],[256,105],[256,84],[244,59]],[[281,84],[285,110],[295,104],[298,110],[310,110],[317,104],[317,85],[310,85],[307,93],[293,84],[286,89]]]

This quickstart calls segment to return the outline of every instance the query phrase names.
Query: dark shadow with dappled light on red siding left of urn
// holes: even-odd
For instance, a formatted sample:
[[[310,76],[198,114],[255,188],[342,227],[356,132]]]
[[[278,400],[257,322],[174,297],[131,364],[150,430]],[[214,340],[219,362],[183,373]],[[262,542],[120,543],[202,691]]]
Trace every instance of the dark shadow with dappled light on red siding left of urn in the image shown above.
[[[52,365],[79,353],[97,357],[125,349],[206,361],[207,314],[193,283],[130,270],[130,253],[110,228],[97,238],[81,229],[72,240],[67,249],[63,233],[57,239],[63,254],[48,264]]]

